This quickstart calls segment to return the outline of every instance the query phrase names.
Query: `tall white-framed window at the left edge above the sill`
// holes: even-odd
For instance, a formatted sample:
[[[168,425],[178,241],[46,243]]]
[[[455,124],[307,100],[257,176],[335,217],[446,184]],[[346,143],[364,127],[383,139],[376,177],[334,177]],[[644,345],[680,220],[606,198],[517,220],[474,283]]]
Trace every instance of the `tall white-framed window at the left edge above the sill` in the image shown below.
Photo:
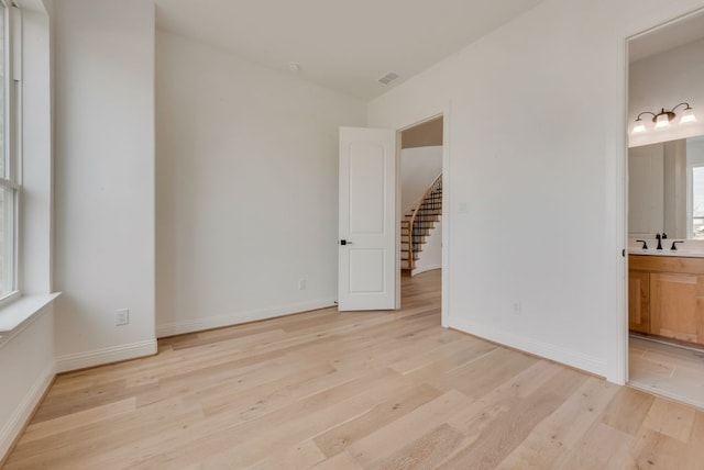
[[[19,293],[18,226],[20,165],[20,10],[0,0],[0,302]]]

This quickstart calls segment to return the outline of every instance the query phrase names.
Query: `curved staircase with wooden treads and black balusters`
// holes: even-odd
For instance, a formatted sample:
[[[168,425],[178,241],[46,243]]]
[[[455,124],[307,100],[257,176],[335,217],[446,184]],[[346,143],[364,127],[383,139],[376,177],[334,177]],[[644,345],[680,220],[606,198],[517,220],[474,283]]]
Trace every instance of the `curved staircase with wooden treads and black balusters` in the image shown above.
[[[442,174],[432,181],[424,195],[400,221],[400,268],[413,271],[420,258],[422,245],[442,215]]]

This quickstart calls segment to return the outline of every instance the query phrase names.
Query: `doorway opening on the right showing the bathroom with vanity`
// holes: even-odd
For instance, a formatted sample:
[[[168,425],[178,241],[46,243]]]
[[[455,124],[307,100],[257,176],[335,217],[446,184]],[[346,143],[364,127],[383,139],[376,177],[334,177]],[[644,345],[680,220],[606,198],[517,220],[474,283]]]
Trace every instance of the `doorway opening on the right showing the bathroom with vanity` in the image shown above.
[[[682,120],[693,111],[704,121],[702,63],[704,10],[628,41],[628,383],[704,407],[704,240],[691,171],[704,125]]]

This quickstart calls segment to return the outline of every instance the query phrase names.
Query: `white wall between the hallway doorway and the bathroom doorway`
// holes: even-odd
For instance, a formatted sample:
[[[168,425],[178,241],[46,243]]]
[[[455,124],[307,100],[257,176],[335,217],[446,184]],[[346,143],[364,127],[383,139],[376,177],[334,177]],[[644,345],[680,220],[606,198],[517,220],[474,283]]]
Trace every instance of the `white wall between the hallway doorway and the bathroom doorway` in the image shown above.
[[[625,40],[694,7],[546,0],[370,103],[447,111],[450,326],[625,379]]]

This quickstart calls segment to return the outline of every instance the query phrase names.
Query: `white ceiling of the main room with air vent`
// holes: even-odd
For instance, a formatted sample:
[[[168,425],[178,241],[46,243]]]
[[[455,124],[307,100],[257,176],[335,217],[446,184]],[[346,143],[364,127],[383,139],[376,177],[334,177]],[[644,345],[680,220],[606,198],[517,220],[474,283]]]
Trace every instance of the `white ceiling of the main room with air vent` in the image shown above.
[[[370,100],[542,0],[155,1],[161,30]]]

